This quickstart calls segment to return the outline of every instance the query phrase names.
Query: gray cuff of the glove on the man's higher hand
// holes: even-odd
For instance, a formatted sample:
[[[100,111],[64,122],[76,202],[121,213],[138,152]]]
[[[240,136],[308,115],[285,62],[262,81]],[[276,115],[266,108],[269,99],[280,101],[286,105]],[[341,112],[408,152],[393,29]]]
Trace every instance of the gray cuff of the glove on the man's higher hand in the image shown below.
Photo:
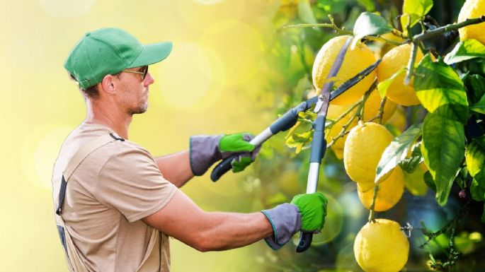
[[[223,134],[217,136],[190,137],[190,169],[196,176],[202,176],[214,162],[221,160],[219,141]]]

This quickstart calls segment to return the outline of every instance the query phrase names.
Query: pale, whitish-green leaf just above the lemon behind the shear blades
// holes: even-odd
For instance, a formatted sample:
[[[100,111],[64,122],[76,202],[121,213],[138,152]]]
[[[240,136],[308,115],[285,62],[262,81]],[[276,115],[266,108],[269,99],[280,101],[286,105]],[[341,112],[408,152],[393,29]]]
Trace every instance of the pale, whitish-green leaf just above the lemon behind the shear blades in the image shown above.
[[[367,11],[360,13],[353,27],[354,40],[352,48],[365,36],[381,35],[391,31],[392,25],[389,25],[387,20],[381,16]]]

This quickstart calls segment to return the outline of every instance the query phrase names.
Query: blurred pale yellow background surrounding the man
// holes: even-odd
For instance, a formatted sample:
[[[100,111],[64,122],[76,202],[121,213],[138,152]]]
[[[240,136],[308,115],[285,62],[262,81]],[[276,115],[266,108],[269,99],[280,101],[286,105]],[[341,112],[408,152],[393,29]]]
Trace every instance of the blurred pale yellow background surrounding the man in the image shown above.
[[[130,140],[154,155],[188,148],[195,134],[258,133],[272,116],[258,111],[263,48],[273,34],[277,0],[25,0],[0,11],[0,270],[67,271],[52,206],[52,166],[84,101],[64,59],[85,32],[118,27],[143,43],[173,41],[173,52],[150,67],[155,78],[147,113]],[[238,207],[244,177],[213,184],[194,178],[183,191],[207,211]],[[227,205],[231,203],[231,205]],[[196,252],[171,240],[173,271],[263,271],[258,242],[228,252]],[[190,261],[188,261],[190,260]]]

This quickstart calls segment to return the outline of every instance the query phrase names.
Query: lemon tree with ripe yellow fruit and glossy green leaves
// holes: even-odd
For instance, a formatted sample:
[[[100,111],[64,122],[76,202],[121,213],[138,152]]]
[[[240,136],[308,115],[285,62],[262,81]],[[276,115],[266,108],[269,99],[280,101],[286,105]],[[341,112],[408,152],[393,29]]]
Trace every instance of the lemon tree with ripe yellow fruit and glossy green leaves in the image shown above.
[[[344,2],[297,1],[297,19],[278,25],[280,35],[292,37],[289,48],[297,48],[302,61],[299,81],[288,88],[292,93],[283,96],[285,107],[278,113],[318,95],[324,83],[333,81],[336,88],[381,59],[375,72],[331,100],[325,139],[336,156],[324,158],[324,185],[319,189],[348,194],[345,203],[355,213],[343,208],[353,221],[343,224],[341,240],[332,237],[316,248],[343,241],[336,256],[339,264],[354,262],[366,272],[400,271],[406,269],[409,255],[407,235],[421,244],[411,251],[424,256],[429,268],[451,269],[465,254],[477,252],[477,242],[467,240],[470,246],[460,253],[455,237],[469,237],[457,233],[460,224],[474,220],[468,231],[480,232],[479,221],[485,223],[485,1],[404,0],[399,7],[394,1],[353,1],[355,6]],[[449,18],[436,18],[443,11],[449,11]],[[439,24],[446,20],[447,25]],[[328,78],[348,37],[353,41],[341,69]],[[305,48],[312,48],[313,54]],[[313,65],[310,55],[315,56]],[[281,153],[297,167],[308,159],[315,117],[312,111],[300,113],[283,139],[288,149]],[[402,214],[411,197],[431,199],[437,211],[453,214],[441,225],[410,225]],[[481,208],[467,213],[471,206]],[[364,226],[357,219],[363,212],[368,213]],[[352,229],[343,235],[346,227],[355,225],[361,228],[358,233]],[[350,240],[351,259],[346,255]],[[433,248],[438,240],[446,241],[441,253]]]

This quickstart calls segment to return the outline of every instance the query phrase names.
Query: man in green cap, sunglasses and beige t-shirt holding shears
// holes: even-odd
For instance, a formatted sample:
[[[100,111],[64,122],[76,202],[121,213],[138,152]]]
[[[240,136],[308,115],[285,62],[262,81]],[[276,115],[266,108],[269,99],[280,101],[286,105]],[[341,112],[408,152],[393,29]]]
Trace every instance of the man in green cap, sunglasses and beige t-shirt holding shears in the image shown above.
[[[87,115],[64,141],[52,175],[56,222],[72,271],[169,271],[168,236],[202,252],[266,240],[273,249],[299,230],[318,232],[326,199],[295,196],[258,213],[207,213],[178,187],[217,160],[238,153],[252,162],[244,134],[193,136],[190,150],[153,158],[128,141],[133,114],[147,110],[148,66],[171,43],[142,45],[116,28],[86,33],[64,67],[81,89]]]

